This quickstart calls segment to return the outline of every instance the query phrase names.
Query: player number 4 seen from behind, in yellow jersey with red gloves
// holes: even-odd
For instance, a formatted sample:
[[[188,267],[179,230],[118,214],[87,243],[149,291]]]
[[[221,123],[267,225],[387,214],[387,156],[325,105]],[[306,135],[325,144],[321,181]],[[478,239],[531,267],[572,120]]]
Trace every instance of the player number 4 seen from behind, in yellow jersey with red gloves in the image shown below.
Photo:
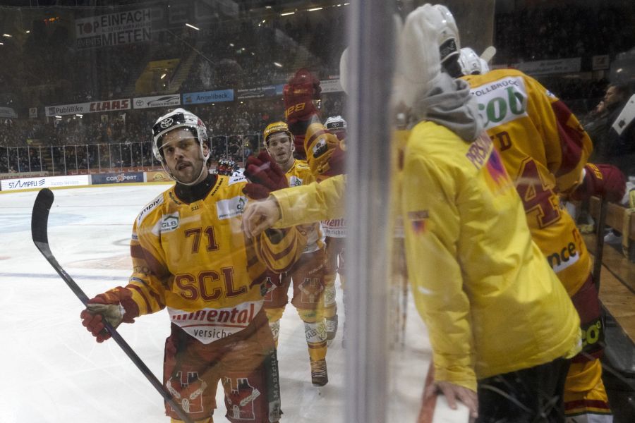
[[[591,257],[560,195],[619,200],[626,189],[624,176],[615,166],[587,164],[591,139],[554,94],[520,71],[488,72],[473,51],[461,49],[459,54],[452,13],[436,5],[430,16],[445,70],[470,85],[485,130],[521,197],[531,236],[578,310],[583,350],[572,360],[564,385],[567,420],[612,422],[599,360],[604,328]]]

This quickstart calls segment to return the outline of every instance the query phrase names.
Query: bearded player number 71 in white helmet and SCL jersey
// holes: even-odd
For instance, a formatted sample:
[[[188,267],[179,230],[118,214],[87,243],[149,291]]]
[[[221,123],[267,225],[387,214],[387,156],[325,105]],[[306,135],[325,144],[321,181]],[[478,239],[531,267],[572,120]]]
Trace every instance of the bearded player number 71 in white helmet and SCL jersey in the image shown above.
[[[176,109],[157,120],[152,136],[155,157],[176,185],[135,219],[128,285],[92,298],[83,325],[102,342],[109,338],[104,317],[117,326],[167,308],[164,385],[188,416],[213,421],[221,381],[230,422],[277,422],[277,358],[262,295],[267,266],[288,269],[306,239],[295,228],[277,231],[275,243],[266,233],[246,239],[243,190],[255,185],[208,172],[210,145],[200,118]],[[179,421],[167,405],[166,414]]]

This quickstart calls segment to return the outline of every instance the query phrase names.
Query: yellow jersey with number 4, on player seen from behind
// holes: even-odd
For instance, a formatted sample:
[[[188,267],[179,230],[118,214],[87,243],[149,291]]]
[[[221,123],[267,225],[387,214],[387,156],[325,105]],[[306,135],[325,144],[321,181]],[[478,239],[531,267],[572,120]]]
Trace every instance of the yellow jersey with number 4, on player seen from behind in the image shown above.
[[[464,79],[514,180],[533,240],[573,295],[588,278],[591,259],[559,193],[581,182],[591,139],[564,103],[520,71]]]

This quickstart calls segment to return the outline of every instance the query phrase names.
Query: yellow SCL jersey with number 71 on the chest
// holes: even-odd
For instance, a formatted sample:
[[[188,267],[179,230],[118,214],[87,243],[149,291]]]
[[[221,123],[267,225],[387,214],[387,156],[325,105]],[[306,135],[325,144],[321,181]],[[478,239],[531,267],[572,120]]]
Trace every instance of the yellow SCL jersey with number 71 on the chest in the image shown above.
[[[204,199],[190,204],[172,187],[138,214],[126,288],[140,314],[167,307],[170,321],[202,343],[248,326],[262,307],[267,276],[255,249],[267,249],[272,270],[284,271],[306,240],[294,228],[276,243],[264,233],[248,240],[241,228],[245,185],[245,178],[219,176]]]

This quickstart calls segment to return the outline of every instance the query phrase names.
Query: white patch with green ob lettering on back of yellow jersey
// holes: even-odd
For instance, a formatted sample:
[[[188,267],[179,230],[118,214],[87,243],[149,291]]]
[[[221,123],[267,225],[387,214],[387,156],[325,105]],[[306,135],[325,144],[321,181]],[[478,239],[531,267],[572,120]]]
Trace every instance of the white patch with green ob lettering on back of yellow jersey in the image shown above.
[[[478,101],[478,113],[486,130],[528,116],[528,96],[522,78],[502,78],[470,92]]]

